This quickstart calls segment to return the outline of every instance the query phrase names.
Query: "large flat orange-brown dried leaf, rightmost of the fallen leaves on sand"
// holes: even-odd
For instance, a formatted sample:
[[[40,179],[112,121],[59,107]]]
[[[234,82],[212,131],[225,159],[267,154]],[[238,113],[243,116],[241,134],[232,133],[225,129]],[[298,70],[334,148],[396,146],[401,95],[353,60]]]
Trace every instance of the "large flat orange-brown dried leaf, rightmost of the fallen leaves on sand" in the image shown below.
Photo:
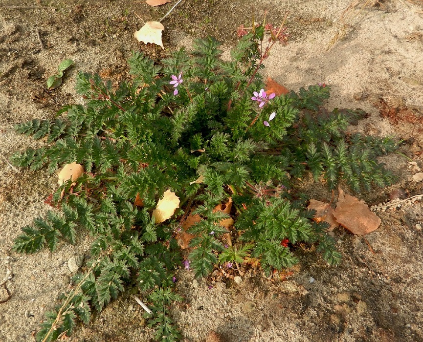
[[[366,235],[380,225],[380,218],[370,211],[364,201],[346,194],[341,188],[334,217],[340,225],[356,235]]]

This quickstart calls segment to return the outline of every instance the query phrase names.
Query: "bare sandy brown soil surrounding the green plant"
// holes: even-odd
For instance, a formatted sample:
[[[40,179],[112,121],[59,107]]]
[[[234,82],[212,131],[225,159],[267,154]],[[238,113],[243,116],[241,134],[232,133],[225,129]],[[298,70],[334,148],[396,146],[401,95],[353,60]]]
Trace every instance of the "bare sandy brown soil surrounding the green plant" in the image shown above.
[[[291,41],[273,50],[268,76],[295,90],[326,82],[333,89],[328,108],[360,107],[369,113],[352,130],[404,140],[401,155],[384,158],[398,183],[357,195],[371,205],[423,192],[422,182],[412,178],[423,168],[423,3],[374,2],[344,15],[346,35],[328,49],[348,1],[254,1],[260,20],[268,9],[267,20],[278,24],[289,11]],[[163,21],[162,51],[134,40],[141,26],[135,13],[145,21],[157,20],[170,5],[150,9],[126,0],[1,0],[0,7],[0,283],[7,280],[12,293],[0,303],[0,341],[26,342],[35,341],[44,312],[70,288],[68,260],[88,255],[89,238],[82,235],[76,246],[61,245],[53,254],[11,252],[20,228],[45,214],[44,200],[57,186],[55,175],[8,167],[5,158],[11,153],[42,144],[17,135],[13,125],[51,118],[63,105],[79,102],[73,89],[79,69],[114,81],[124,78],[132,50],[156,59],[213,34],[226,52],[236,41],[236,27],[248,26],[251,13],[250,1],[185,0]],[[47,77],[66,58],[76,66],[61,87],[45,91]],[[317,200],[330,199],[323,185],[305,182],[303,190]],[[367,235],[375,254],[363,238],[334,231],[343,255],[338,267],[304,250],[297,251],[300,266],[286,281],[247,273],[237,284],[231,278],[197,280],[179,271],[178,291],[185,302],[174,308],[174,316],[184,341],[217,341],[212,331],[225,342],[423,341],[422,202],[405,201],[400,209],[378,215],[381,226]],[[148,341],[152,335],[142,309],[129,295],[113,301],[67,341]],[[1,287],[0,300],[6,297]]]

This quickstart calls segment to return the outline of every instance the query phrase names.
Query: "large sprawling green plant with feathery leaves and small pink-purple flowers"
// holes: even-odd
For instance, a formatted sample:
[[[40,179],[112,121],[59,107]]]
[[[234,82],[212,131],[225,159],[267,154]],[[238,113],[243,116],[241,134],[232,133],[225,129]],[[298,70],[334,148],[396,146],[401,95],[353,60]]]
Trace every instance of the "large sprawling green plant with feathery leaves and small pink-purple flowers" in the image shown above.
[[[76,89],[85,105],[62,109],[63,118],[17,125],[18,132],[43,138],[46,145],[15,153],[15,165],[53,173],[77,162],[86,173],[55,192],[60,212],[51,210],[23,227],[13,249],[54,251],[61,239],[75,243],[81,230],[94,239],[87,271],[75,276],[74,290],[47,314],[38,341],[69,335],[77,319],[88,322],[92,311],[134,283],[148,294],[153,314],[146,317],[156,340],[178,340],[168,307],[181,300],[173,292],[174,270],[184,258],[176,237],[189,214],[201,216],[188,230],[196,276],[247,256],[269,274],[298,262],[291,246],[299,242],[316,244],[328,263],[339,261],[328,225],[312,221],[293,181],[311,173],[331,188],[340,179],[356,191],[385,186],[392,175],[376,160],[396,145],[388,138],[346,134],[359,111],[320,115],[329,86],[276,97],[259,92],[264,84],[257,71],[280,32],[273,30],[262,49],[265,27],[254,25],[232,61],[220,58],[219,43],[211,38],[158,65],[135,53],[129,60],[132,80],[117,88],[80,72]],[[180,198],[179,209],[156,224],[152,212],[168,189]],[[235,219],[230,230],[219,225],[229,215],[214,210],[228,197]],[[136,198],[142,206],[134,205]],[[225,246],[227,234],[233,246]]]

